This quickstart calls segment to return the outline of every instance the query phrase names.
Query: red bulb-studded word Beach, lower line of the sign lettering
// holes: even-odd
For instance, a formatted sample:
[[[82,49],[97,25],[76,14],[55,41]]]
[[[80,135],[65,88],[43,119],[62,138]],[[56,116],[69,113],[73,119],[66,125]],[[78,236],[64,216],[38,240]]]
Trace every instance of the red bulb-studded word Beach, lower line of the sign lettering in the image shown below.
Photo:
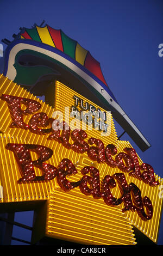
[[[80,191],[86,196],[92,194],[93,198],[98,199],[103,197],[104,202],[109,206],[116,206],[124,203],[124,211],[137,211],[137,214],[143,221],[150,220],[153,216],[153,208],[151,200],[148,197],[141,197],[141,191],[134,184],[127,184],[126,178],[123,173],[116,173],[112,176],[106,175],[103,181],[103,189],[101,190],[99,171],[92,166],[86,166],[81,170],[84,175],[83,178],[77,182],[70,182],[66,179],[66,176],[70,176],[77,173],[77,169],[74,164],[68,159],[62,159],[58,167],[54,167],[51,164],[44,163],[48,160],[52,154],[52,149],[43,147],[42,145],[33,144],[7,144],[7,149],[12,150],[15,154],[18,166],[22,173],[22,179],[19,182],[32,182],[32,181],[47,181],[52,180],[57,176],[59,186],[64,191],[70,191],[72,188],[79,186]],[[32,161],[30,157],[30,150],[35,151],[39,155],[39,159]],[[100,153],[99,153],[100,154]],[[42,170],[42,176],[36,176],[34,167],[39,167]],[[90,173],[91,176],[86,174]],[[115,179],[122,193],[121,198],[114,198],[111,194],[110,188],[116,186]],[[87,183],[90,184],[89,188]],[[159,185],[159,182],[153,180],[153,185]],[[133,197],[133,200],[131,199]],[[146,207],[148,214],[146,215],[143,206]]]

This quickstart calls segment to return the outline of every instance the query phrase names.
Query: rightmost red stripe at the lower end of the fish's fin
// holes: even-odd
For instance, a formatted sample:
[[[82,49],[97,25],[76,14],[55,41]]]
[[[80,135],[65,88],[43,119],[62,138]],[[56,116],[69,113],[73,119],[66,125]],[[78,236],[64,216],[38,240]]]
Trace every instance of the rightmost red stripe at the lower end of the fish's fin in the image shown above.
[[[90,52],[87,53],[84,66],[86,69],[91,71],[93,75],[97,76],[106,86],[108,86],[105,82],[99,62],[91,56]]]

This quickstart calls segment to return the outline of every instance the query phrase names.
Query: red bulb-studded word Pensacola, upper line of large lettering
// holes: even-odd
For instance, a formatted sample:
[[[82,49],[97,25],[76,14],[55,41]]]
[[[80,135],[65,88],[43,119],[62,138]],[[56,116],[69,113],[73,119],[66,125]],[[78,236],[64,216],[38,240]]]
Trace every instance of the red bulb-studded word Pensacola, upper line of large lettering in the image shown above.
[[[43,112],[34,114],[29,120],[29,124],[26,124],[23,121],[23,115],[37,112],[41,108],[41,104],[32,99],[5,94],[2,94],[1,99],[8,103],[8,108],[12,119],[10,127],[17,127],[26,130],[29,129],[31,132],[38,135],[46,135],[47,133],[51,133],[47,139],[58,141],[67,149],[72,149],[78,154],[83,154],[86,152],[87,156],[92,161],[106,163],[112,168],[117,167],[122,172],[127,172],[130,176],[142,180],[150,186],[159,185],[159,182],[155,181],[152,166],[148,163],[143,163],[140,166],[136,152],[133,148],[124,148],[126,153],[123,152],[117,154],[115,145],[109,144],[105,148],[104,143],[99,139],[89,138],[89,140],[85,142],[84,139],[87,138],[87,133],[85,131],[77,129],[71,131],[70,127],[65,122],[59,123],[58,120],[48,118],[47,114]],[[24,104],[26,109],[22,110],[21,104]],[[55,121],[58,123],[58,130],[52,129],[52,124]],[[40,129],[40,126],[47,127],[48,125],[51,125],[51,128]],[[69,143],[70,136],[74,141],[73,144]],[[89,144],[95,144],[96,147],[90,147]],[[112,159],[112,156],[114,155],[116,155],[115,160]],[[141,170],[143,170],[142,173]]]

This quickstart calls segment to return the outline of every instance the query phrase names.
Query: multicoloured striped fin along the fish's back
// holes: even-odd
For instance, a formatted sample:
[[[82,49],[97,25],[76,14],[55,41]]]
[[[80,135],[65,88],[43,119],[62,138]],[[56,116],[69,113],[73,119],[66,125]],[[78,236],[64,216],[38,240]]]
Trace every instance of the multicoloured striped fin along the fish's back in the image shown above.
[[[45,27],[36,26],[32,29],[25,28],[25,31],[21,33],[20,38],[31,39],[57,48],[83,65],[106,86],[108,86],[102,74],[100,63],[92,57],[89,51],[80,46],[76,40],[68,37],[61,31],[61,29],[54,29],[48,25]]]

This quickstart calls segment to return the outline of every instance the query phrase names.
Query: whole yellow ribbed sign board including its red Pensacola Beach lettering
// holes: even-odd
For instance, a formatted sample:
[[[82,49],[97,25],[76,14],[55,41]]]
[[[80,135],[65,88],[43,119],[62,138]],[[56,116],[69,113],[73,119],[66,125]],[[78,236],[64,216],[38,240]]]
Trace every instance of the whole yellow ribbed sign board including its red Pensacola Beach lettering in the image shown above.
[[[47,202],[45,228],[39,234],[35,229],[34,241],[48,236],[89,245],[135,245],[132,225],[157,241],[162,208],[159,186],[130,175],[131,162],[124,149],[132,147],[118,141],[110,113],[60,82],[55,82],[54,109],[4,76],[0,97],[0,207]],[[102,121],[92,118],[100,113]],[[55,132],[53,125],[63,124],[61,119],[71,132],[69,127],[64,135]],[[103,161],[108,145],[117,150],[111,159],[119,157],[118,167]],[[143,164],[139,156],[137,161]],[[163,184],[156,175],[151,180]],[[130,187],[131,196],[124,186]],[[135,205],[139,210],[131,211],[127,197],[134,202],[133,210]],[[141,203],[147,211],[137,206]]]

